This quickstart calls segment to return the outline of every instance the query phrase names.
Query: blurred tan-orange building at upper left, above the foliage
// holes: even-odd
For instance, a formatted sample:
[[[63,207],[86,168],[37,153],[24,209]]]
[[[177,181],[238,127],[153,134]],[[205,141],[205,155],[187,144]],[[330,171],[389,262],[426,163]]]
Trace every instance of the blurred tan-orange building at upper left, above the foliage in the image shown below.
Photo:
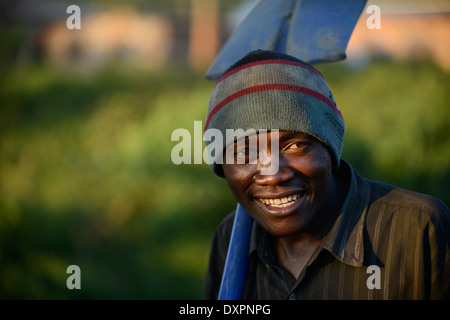
[[[37,39],[51,63],[96,64],[111,59],[159,66],[167,62],[174,42],[172,24],[133,8],[94,12],[83,17],[80,30],[66,21],[46,26]]]

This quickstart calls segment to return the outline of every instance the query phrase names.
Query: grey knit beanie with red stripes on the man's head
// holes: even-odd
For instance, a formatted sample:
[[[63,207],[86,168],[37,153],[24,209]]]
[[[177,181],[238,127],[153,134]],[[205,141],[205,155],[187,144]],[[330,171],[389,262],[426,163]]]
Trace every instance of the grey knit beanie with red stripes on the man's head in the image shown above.
[[[226,129],[306,133],[328,147],[336,169],[345,124],[319,71],[292,56],[257,50],[232,65],[215,84],[205,132],[208,129],[222,133],[224,149],[227,142],[230,144],[226,141]],[[236,140],[244,136],[236,136]],[[205,139],[205,143],[208,147],[211,141]],[[224,176],[222,157],[223,153],[217,153],[210,159],[212,171],[220,177]]]

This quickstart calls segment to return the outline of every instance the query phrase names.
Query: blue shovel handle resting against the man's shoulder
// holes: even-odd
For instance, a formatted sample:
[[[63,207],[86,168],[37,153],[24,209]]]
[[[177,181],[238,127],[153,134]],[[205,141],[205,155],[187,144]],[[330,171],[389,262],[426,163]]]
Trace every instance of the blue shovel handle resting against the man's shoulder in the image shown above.
[[[238,203],[219,290],[219,300],[242,299],[247,278],[252,226],[253,218]]]

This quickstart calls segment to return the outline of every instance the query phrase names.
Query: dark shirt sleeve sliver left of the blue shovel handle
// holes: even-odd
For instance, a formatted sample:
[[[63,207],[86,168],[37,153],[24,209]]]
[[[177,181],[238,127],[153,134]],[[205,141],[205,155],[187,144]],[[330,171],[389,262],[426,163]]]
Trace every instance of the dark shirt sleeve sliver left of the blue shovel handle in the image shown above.
[[[213,237],[206,271],[203,294],[207,300],[217,300],[223,269],[230,243],[235,212],[233,211],[219,224]]]

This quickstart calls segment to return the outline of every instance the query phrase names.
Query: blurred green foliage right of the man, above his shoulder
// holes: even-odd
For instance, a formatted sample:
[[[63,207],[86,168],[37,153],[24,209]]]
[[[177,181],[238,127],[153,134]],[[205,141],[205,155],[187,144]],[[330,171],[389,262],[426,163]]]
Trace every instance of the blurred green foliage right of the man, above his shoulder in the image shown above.
[[[450,204],[450,74],[431,62],[319,67],[346,122],[343,158],[366,178]]]

